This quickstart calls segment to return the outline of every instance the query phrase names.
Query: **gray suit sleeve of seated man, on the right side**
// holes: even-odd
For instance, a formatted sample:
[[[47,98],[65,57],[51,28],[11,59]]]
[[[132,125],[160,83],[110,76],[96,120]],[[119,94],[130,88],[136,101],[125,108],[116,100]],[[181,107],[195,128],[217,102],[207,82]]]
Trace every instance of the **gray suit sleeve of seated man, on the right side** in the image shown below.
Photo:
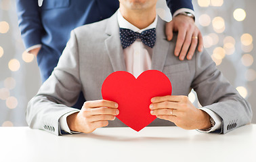
[[[252,119],[251,105],[224,78],[210,55],[204,50],[195,54],[195,76],[191,88],[197,93],[203,108],[221,117],[220,133],[249,124]]]

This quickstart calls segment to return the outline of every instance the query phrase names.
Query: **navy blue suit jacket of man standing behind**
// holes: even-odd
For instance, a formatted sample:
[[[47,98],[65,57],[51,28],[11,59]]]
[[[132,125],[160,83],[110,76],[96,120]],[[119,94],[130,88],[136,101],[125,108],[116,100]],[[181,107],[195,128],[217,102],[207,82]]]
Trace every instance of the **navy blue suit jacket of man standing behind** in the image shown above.
[[[62,54],[70,31],[78,26],[109,18],[119,8],[118,0],[16,0],[18,22],[26,48],[41,44],[37,62],[45,81]],[[167,0],[173,14],[193,9],[192,0]]]

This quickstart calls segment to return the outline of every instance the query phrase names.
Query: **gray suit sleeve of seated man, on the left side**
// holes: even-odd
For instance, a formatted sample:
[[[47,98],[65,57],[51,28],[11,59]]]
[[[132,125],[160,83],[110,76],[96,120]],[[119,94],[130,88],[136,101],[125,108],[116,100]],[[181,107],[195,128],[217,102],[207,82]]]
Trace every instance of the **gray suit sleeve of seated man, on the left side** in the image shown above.
[[[77,38],[72,31],[54,72],[28,103],[28,126],[60,135],[59,119],[66,113],[77,111],[71,106],[77,102],[80,92]]]

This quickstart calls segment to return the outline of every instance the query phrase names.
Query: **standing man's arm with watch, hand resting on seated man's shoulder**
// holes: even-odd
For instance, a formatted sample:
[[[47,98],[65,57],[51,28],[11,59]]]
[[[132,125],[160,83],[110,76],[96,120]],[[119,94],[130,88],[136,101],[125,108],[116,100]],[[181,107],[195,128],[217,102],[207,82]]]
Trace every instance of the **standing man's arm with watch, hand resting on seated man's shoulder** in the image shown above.
[[[167,0],[167,5],[171,10],[173,20],[166,24],[167,39],[171,41],[173,32],[178,32],[177,44],[174,54],[180,60],[191,59],[196,46],[198,51],[202,51],[202,34],[194,23],[194,8],[191,0]],[[186,16],[186,14],[188,15]]]

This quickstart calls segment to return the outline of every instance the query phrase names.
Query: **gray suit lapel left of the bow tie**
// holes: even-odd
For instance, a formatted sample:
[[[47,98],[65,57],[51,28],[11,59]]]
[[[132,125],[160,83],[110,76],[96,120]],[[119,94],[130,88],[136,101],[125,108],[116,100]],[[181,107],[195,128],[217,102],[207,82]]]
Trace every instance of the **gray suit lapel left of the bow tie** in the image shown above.
[[[126,71],[123,48],[121,46],[121,41],[119,37],[119,24],[117,22],[116,13],[111,16],[111,18],[109,18],[107,22],[106,34],[108,34],[108,38],[106,38],[105,40],[105,45],[114,72]]]

